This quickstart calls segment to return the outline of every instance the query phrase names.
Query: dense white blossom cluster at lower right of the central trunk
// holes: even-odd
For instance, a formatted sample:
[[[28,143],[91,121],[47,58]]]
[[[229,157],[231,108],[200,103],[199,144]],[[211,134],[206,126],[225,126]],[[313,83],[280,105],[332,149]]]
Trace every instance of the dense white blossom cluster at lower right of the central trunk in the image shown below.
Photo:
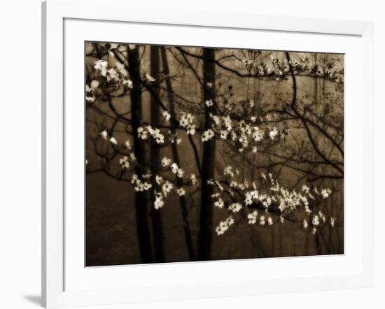
[[[274,224],[274,220],[271,213],[270,207],[274,207],[274,211],[278,212],[279,220],[276,222],[283,223],[285,222],[286,216],[290,216],[290,213],[293,213],[297,210],[304,210],[304,213],[307,214],[302,222],[304,229],[307,229],[311,224],[311,232],[316,233],[317,229],[321,224],[325,224],[326,217],[318,210],[318,213],[314,213],[311,210],[309,200],[321,202],[323,199],[326,199],[330,196],[330,189],[310,189],[307,185],[302,186],[300,192],[295,191],[294,189],[287,189],[282,187],[278,180],[275,180],[272,177],[272,173],[262,173],[262,179],[267,181],[268,187],[267,191],[263,192],[263,189],[257,189],[255,182],[248,183],[248,181],[237,181],[234,178],[239,174],[237,169],[233,169],[232,166],[225,166],[223,175],[226,178],[230,178],[228,182],[228,188],[223,189],[221,182],[218,180],[209,180],[209,185],[216,185],[218,191],[211,194],[211,197],[214,199],[214,206],[217,208],[225,208],[230,213],[239,213],[242,208],[251,208],[253,212],[248,213],[247,220],[248,224],[257,224],[261,227],[269,227]],[[218,185],[217,185],[218,184]],[[219,187],[221,186],[221,187]],[[243,194],[243,201],[227,201],[226,194],[230,194],[234,199],[234,190],[237,190],[237,195]],[[314,194],[314,195],[313,195]],[[311,197],[310,197],[311,196]],[[317,197],[318,196],[318,197]],[[226,206],[227,205],[227,206]],[[225,207],[226,206],[226,207]],[[255,207],[265,210],[261,215],[258,215],[258,210],[255,210]],[[330,217],[331,227],[335,227],[335,217]],[[218,227],[218,234],[223,234],[228,229]]]

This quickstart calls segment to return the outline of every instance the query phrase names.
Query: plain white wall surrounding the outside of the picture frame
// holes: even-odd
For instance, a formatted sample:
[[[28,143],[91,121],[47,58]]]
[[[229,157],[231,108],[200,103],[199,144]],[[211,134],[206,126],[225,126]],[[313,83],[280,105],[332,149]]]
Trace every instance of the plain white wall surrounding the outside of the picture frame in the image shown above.
[[[108,0],[106,0],[108,1]],[[127,0],[129,1],[129,0]],[[141,1],[137,1],[140,3]],[[147,0],[146,3],[155,1]],[[375,287],[146,303],[103,308],[384,308],[385,203],[384,73],[385,9],[376,0],[207,1],[163,0],[166,7],[248,11],[258,14],[374,21],[375,31]],[[38,308],[41,271],[41,1],[2,1],[0,5],[0,308]],[[192,291],[193,293],[193,291]]]

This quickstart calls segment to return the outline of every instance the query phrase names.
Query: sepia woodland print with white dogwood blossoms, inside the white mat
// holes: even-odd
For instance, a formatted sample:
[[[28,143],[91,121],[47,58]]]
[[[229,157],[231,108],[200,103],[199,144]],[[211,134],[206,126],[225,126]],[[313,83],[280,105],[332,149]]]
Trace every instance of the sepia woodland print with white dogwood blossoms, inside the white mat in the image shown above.
[[[85,266],[344,254],[344,55],[85,42]]]

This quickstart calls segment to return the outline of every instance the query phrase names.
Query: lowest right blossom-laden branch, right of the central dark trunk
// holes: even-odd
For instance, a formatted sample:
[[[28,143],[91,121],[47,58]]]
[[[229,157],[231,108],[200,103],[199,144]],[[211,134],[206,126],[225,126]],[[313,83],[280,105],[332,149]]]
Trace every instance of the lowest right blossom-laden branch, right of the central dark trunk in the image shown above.
[[[262,178],[269,184],[267,189],[260,189],[255,182],[234,180],[239,172],[232,166],[227,166],[224,171],[225,180],[210,180],[215,187],[212,194],[214,206],[228,210],[229,217],[219,222],[216,233],[223,235],[235,222],[235,216],[242,211],[246,212],[248,224],[258,224],[260,227],[270,227],[274,224],[283,224],[285,220],[298,222],[293,218],[295,213],[304,213],[302,227],[315,235],[318,229],[323,227],[328,219],[331,227],[335,227],[336,218],[326,216],[321,210],[315,209],[321,206],[325,199],[332,194],[330,189],[310,189],[303,185],[300,192],[282,187],[278,180],[262,173]],[[273,215],[279,216],[274,222]],[[239,215],[239,220],[244,217]]]

